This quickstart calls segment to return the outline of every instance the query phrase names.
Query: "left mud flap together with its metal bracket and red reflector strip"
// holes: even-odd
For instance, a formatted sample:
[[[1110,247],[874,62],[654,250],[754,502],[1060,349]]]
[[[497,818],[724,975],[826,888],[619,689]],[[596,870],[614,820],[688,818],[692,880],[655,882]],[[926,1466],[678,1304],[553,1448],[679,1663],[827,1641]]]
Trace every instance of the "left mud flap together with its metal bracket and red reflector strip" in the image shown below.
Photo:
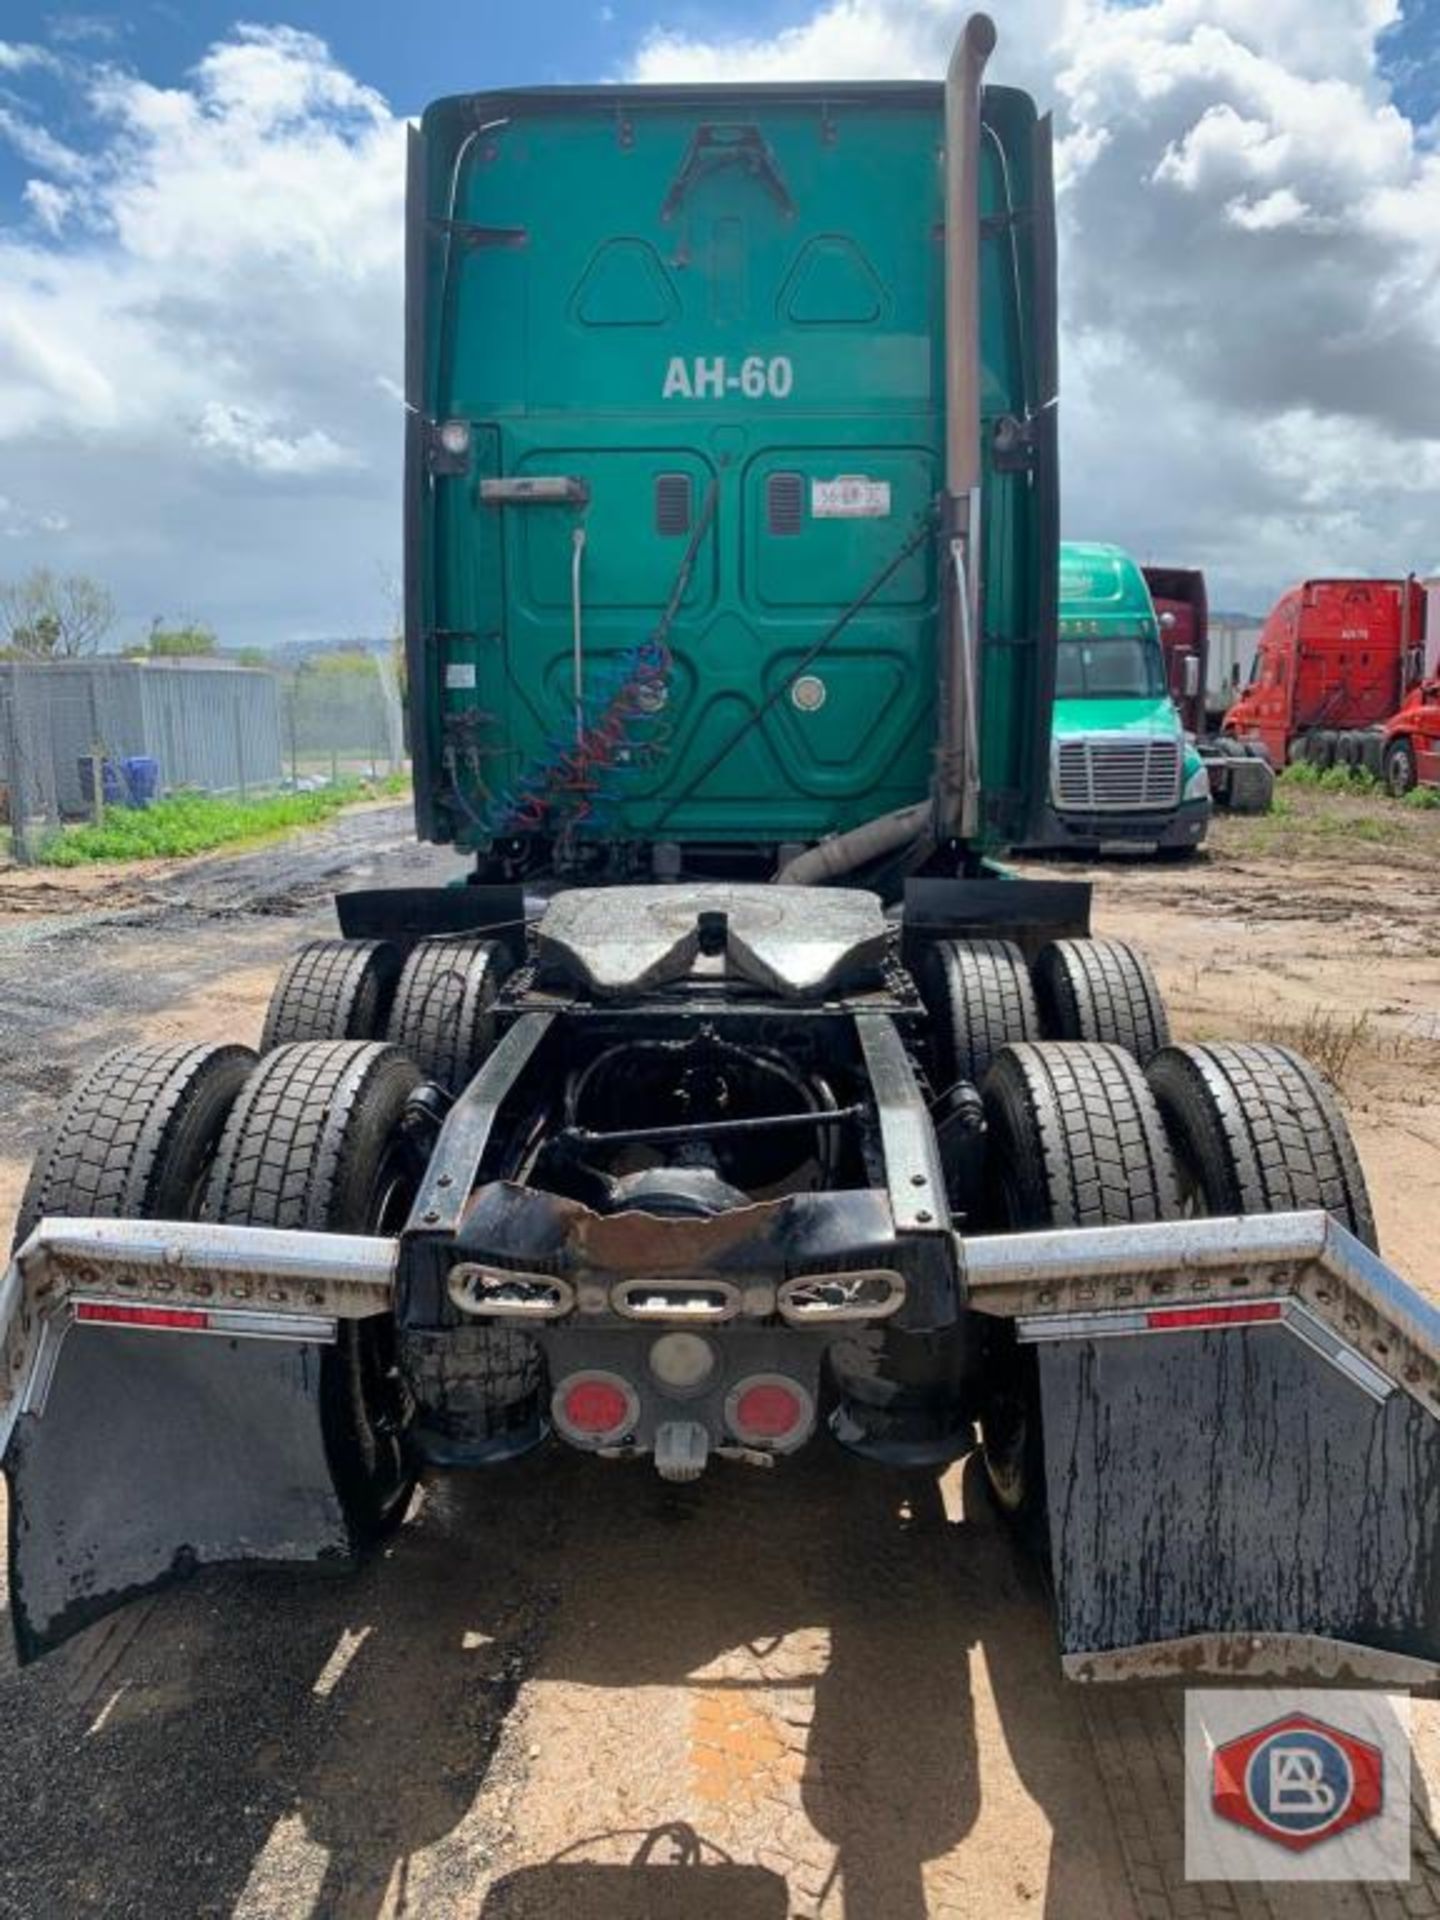
[[[357,1235],[40,1221],[0,1277],[21,1661],[198,1567],[346,1565],[399,1517],[409,1482],[371,1471],[353,1402],[353,1323],[388,1309],[394,1260]]]

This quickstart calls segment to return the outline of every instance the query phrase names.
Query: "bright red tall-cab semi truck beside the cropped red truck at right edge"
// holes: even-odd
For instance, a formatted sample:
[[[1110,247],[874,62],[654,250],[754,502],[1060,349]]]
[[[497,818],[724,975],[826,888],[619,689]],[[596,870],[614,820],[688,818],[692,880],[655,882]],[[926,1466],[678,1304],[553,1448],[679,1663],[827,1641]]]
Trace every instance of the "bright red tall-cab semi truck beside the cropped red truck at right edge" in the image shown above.
[[[1425,672],[1425,589],[1405,580],[1304,580],[1279,597],[1223,733],[1275,766],[1386,766],[1386,722]],[[1419,776],[1417,776],[1419,778]]]

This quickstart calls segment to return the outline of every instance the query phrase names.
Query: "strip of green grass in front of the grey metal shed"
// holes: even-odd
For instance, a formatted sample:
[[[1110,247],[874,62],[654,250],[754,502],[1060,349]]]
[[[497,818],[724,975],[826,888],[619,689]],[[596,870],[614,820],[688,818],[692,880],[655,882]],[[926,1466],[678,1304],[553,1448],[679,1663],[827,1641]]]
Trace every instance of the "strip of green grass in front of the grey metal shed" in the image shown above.
[[[403,791],[392,781],[344,783],[317,793],[271,793],[236,801],[213,793],[175,793],[154,806],[108,806],[102,826],[65,828],[38,851],[42,866],[86,866],[92,860],[173,860],[209,852],[234,841],[269,839],[290,828],[309,828],[342,806]]]

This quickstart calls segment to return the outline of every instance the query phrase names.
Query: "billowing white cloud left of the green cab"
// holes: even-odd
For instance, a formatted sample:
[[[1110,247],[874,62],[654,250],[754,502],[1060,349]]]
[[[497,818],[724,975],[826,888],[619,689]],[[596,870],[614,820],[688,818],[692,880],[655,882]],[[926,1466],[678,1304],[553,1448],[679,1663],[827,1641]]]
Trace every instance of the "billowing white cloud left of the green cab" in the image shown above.
[[[0,225],[0,463],[69,520],[23,530],[136,618],[384,630],[403,121],[288,27],[236,29],[179,86],[77,52],[65,81],[84,159],[31,152],[50,177]]]

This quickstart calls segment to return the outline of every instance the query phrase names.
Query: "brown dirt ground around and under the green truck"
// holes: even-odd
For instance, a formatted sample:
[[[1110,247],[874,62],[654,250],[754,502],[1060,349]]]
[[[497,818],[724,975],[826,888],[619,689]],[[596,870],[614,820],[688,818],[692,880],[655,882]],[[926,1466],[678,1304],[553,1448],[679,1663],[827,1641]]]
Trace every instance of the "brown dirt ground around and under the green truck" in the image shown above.
[[[1148,947],[1183,1035],[1327,1064],[1382,1246],[1440,1298],[1440,814],[1386,839],[1336,804],[1064,877]],[[447,872],[392,810],[63,899],[0,874],[0,1229],[94,1054],[253,1039],[332,883]],[[1423,1814],[1405,1887],[1187,1885],[1181,1716],[1177,1688],[1060,1682],[968,1465],[812,1450],[668,1488],[543,1453],[438,1478],[355,1576],[202,1576],[0,1665],[0,1916],[1440,1916]]]

